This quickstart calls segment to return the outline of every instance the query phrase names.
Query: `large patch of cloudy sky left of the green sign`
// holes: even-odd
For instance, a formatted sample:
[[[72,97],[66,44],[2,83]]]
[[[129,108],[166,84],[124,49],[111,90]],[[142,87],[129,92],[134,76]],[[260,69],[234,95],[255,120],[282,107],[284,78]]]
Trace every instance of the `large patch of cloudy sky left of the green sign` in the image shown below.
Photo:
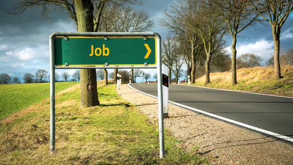
[[[0,0],[11,10],[17,0]],[[0,73],[22,77],[39,69],[49,71],[49,36],[56,31],[76,31],[66,13],[52,11],[44,20],[40,12],[28,9],[10,16],[0,9]],[[2,48],[1,48],[2,47]],[[5,49],[4,49],[4,48]]]

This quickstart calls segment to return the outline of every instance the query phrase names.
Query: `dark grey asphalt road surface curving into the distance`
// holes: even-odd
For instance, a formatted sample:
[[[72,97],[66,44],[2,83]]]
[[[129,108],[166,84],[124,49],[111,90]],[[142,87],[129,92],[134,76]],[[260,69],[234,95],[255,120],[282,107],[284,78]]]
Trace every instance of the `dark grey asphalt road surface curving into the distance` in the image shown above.
[[[154,96],[157,84],[130,84]],[[169,100],[293,138],[293,98],[169,84]]]

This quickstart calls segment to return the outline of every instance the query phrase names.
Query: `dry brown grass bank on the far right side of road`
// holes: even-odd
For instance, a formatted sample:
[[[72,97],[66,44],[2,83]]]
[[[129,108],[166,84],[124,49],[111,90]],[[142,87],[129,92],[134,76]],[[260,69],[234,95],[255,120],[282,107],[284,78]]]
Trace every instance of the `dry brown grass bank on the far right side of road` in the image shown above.
[[[283,78],[274,79],[273,67],[241,68],[237,70],[237,85],[231,86],[230,71],[210,73],[209,84],[205,84],[204,75],[194,85],[293,96],[293,66],[282,66],[281,75]]]

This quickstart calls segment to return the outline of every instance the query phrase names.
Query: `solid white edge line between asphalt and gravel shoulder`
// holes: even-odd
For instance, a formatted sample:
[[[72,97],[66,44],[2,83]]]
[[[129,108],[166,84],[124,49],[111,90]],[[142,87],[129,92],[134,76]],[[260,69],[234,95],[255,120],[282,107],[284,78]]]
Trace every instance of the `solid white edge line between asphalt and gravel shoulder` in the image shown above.
[[[138,91],[134,88],[132,88],[129,84],[127,84],[127,86],[131,89],[133,89],[134,91],[136,92],[139,92],[141,94],[146,94],[144,92],[141,92],[141,91]],[[154,97],[154,98],[158,98],[157,96],[154,96],[154,95],[150,95],[150,94],[146,94],[148,96],[151,96],[151,97]],[[289,97],[291,98],[291,97]],[[221,120],[224,120],[224,121],[227,121],[227,122],[230,122],[230,123],[233,123],[233,124],[236,124],[236,125],[240,125],[242,127],[246,127],[246,128],[249,128],[251,130],[255,130],[255,131],[258,131],[258,132],[261,132],[261,133],[265,133],[265,134],[268,134],[268,135],[271,135],[271,136],[274,136],[274,137],[277,137],[279,139],[284,139],[286,141],[291,141],[293,142],[293,138],[290,138],[290,137],[287,137],[287,136],[284,136],[284,135],[280,135],[280,134],[277,134],[277,133],[274,133],[274,132],[271,132],[271,131],[267,131],[267,130],[264,130],[264,129],[261,129],[261,128],[257,128],[257,127],[254,127],[254,126],[251,126],[251,125],[248,125],[248,124],[244,124],[242,122],[238,122],[238,121],[235,121],[235,120],[231,120],[229,118],[224,118],[224,117],[220,117],[218,115],[214,115],[214,114],[211,114],[209,112],[205,112],[205,111],[202,111],[202,110],[199,110],[199,109],[195,109],[195,108],[192,108],[192,107],[188,107],[186,105],[183,105],[183,104],[179,104],[179,103],[176,103],[176,102],[173,102],[173,101],[170,101],[169,100],[169,103],[172,103],[174,105],[178,105],[178,106],[181,106],[181,107],[184,107],[184,108],[187,108],[189,110],[192,110],[192,111],[196,111],[196,112],[199,112],[201,114],[205,114],[205,115],[208,115],[210,117],[213,117],[213,118],[219,118]]]

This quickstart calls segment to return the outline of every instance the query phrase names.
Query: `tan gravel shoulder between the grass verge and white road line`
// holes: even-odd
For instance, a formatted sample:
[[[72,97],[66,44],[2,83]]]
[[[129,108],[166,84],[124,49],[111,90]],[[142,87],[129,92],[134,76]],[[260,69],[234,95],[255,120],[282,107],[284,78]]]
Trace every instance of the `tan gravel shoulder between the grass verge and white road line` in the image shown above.
[[[158,122],[158,100],[140,94],[127,85],[119,96],[136,105],[139,111]],[[197,154],[219,165],[293,165],[293,145],[252,132],[230,123],[196,114],[169,103],[169,118],[164,126],[182,148],[196,148]]]

